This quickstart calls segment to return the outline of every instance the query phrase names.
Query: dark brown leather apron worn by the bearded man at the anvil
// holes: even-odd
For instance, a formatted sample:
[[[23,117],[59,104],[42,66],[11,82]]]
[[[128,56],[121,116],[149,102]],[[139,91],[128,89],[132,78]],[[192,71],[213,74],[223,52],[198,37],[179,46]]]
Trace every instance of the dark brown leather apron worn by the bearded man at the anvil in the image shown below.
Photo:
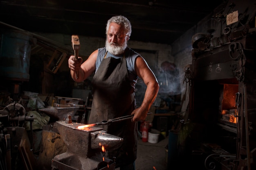
[[[128,79],[126,59],[106,58],[92,78],[93,101],[88,123],[130,115],[135,109],[135,94]],[[133,163],[137,158],[137,122],[130,119],[99,126],[108,134],[122,137],[123,144],[108,157],[116,159],[116,166]]]

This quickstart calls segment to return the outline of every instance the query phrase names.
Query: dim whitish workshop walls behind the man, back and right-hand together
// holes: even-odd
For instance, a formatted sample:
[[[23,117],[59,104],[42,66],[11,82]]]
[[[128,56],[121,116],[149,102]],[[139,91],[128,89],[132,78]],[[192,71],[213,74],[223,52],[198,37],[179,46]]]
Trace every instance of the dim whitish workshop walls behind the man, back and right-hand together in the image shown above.
[[[220,8],[215,11],[220,11]],[[213,11],[213,13],[215,13]],[[180,110],[174,110],[175,112],[185,113],[186,108],[188,106],[189,94],[188,94],[188,84],[186,83],[186,73],[184,72],[189,68],[189,65],[192,63],[191,51],[192,44],[191,38],[195,33],[203,32],[207,33],[207,29],[211,29],[215,22],[211,20],[211,16],[213,13],[209,14],[202,21],[200,21],[193,28],[189,29],[184,35],[182,35],[179,39],[177,39],[173,44],[156,44],[156,43],[144,43],[138,41],[129,41],[128,46],[135,51],[139,52],[145,60],[148,62],[150,68],[153,70],[157,79],[159,79],[160,83],[160,92],[168,91],[169,94],[179,94],[180,95]],[[69,51],[73,51],[72,43],[71,43],[71,35],[63,35],[63,34],[50,34],[50,33],[38,33],[34,32],[37,35],[48,38],[49,40],[54,40],[60,44],[63,44]],[[132,35],[131,35],[132,36]],[[85,61],[90,53],[94,50],[103,47],[105,45],[105,37],[103,38],[95,38],[95,37],[85,37],[79,36],[80,41],[80,49],[79,56],[83,58]],[[39,93],[55,93],[58,96],[72,97],[72,89],[74,86],[76,88],[80,86],[80,84],[75,83],[70,75],[69,68],[67,65],[69,55],[65,57],[65,60],[61,64],[58,71],[54,74],[45,73],[44,77],[45,83],[42,88],[43,90]],[[33,56],[31,57],[33,61]],[[35,60],[36,62],[40,60]],[[40,62],[47,63],[47,62]],[[171,70],[166,71],[165,68],[162,67],[164,63],[169,63],[172,66]],[[45,68],[45,67],[44,67]],[[161,79],[161,77],[165,77],[165,79]],[[168,77],[168,78],[167,78]],[[173,79],[173,77],[175,79]],[[48,79],[50,80],[49,82]],[[90,80],[90,77],[88,78]],[[54,86],[49,86],[49,84],[54,84]],[[173,87],[175,86],[175,87]],[[180,86],[180,87],[179,87]],[[140,90],[145,90],[145,86],[143,86],[143,82],[138,81],[137,87]],[[179,87],[179,88],[176,88]],[[55,90],[51,90],[55,89]],[[171,90],[170,90],[171,89]],[[176,89],[176,90],[173,90]],[[167,94],[167,95],[169,95]],[[143,98],[144,93],[141,93],[137,96],[139,99]],[[158,99],[165,98],[162,96],[158,96]],[[166,100],[170,100],[166,97]],[[139,101],[138,101],[139,104]]]

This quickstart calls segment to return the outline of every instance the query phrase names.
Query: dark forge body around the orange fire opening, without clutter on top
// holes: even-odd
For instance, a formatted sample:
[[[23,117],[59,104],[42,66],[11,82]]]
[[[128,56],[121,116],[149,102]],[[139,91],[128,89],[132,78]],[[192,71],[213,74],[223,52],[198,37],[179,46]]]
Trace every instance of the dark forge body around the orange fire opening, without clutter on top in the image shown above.
[[[255,41],[248,35],[193,56],[190,121],[200,141],[192,148],[207,169],[255,167]]]

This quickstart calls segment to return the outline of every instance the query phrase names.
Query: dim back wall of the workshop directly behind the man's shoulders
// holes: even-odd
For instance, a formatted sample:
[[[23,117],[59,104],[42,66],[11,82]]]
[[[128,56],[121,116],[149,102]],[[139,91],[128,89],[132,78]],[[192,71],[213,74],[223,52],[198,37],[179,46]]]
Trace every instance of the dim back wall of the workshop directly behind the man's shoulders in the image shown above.
[[[49,40],[54,40],[60,44],[63,44],[69,51],[73,51],[72,49],[72,43],[71,43],[71,36],[70,35],[63,35],[63,34],[49,34],[49,33],[39,33],[34,32],[36,35],[45,37]],[[96,49],[105,46],[105,38],[95,38],[95,37],[85,37],[79,35],[79,41],[80,41],[80,49],[79,49],[79,56],[83,58],[83,61],[85,61],[88,56]],[[161,72],[161,63],[168,61],[173,63],[174,58],[171,56],[171,46],[168,44],[156,44],[156,43],[144,43],[144,42],[137,42],[137,41],[129,41],[128,46],[131,49],[134,49],[138,53],[140,53],[145,60],[148,62],[148,65],[152,69],[152,71],[155,73],[155,75],[158,77]],[[70,53],[72,55],[72,53]],[[33,57],[33,56],[32,56]],[[35,56],[35,58],[38,58],[38,56]],[[43,93],[48,93],[49,91],[51,93],[55,93],[58,96],[65,96],[65,97],[72,97],[72,88],[81,88],[78,86],[81,86],[81,84],[75,83],[70,76],[70,69],[68,68],[68,58],[69,55],[65,57],[65,60],[62,62],[61,66],[58,68],[58,71],[55,74],[51,74],[54,78],[51,78],[51,81],[54,81],[53,88],[56,89],[55,91],[51,91],[52,87],[47,87]],[[33,60],[33,59],[31,59]],[[44,64],[47,64],[48,59],[46,60]],[[43,62],[40,62],[43,64]],[[33,72],[33,71],[32,71]],[[47,76],[49,79],[51,76],[49,73],[44,73],[44,76]],[[90,82],[90,79],[92,77],[88,78],[88,81]],[[45,79],[45,81],[47,81]],[[44,83],[49,84],[50,82]],[[76,87],[74,87],[76,86]],[[141,81],[138,81],[137,83],[138,91],[145,90],[144,84]],[[83,88],[83,87],[82,87]],[[90,88],[88,88],[90,89]],[[143,98],[144,93],[141,93],[141,95],[137,96],[138,98]],[[138,100],[138,104],[140,101]]]

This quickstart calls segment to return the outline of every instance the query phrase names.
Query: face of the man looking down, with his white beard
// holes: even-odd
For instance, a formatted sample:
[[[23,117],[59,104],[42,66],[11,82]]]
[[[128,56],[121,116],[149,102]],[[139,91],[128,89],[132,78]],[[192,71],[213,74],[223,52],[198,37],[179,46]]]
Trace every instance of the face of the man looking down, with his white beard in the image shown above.
[[[127,47],[127,37],[124,34],[124,28],[112,22],[109,26],[107,38],[106,38],[106,49],[114,55],[124,53]]]

